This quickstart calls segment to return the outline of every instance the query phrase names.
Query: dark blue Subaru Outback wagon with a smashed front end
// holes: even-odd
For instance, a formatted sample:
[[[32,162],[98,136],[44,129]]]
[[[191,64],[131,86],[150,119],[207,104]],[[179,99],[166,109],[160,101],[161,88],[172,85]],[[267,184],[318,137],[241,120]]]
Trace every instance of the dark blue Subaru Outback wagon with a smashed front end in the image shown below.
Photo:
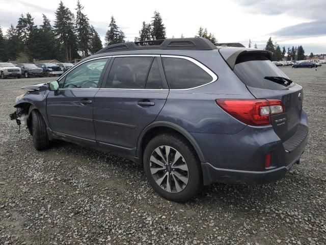
[[[37,150],[53,139],[143,163],[162,197],[213,182],[264,184],[300,161],[303,91],[272,53],[203,38],[104,47],[58,81],[25,86],[11,119]]]

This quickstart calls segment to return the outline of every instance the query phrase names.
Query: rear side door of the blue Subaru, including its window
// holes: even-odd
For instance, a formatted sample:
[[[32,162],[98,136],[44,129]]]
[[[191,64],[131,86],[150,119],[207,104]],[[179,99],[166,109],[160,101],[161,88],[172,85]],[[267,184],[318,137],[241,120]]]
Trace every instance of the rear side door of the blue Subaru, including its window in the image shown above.
[[[99,145],[135,154],[138,137],[164,106],[169,89],[159,55],[115,57],[94,98]]]

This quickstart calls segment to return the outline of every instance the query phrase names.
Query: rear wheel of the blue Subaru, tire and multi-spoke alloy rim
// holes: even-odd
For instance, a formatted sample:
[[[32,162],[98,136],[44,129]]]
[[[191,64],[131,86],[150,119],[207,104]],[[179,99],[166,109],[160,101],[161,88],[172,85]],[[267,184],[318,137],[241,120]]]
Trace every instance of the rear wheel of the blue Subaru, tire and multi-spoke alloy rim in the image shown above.
[[[193,147],[174,134],[154,137],[144,151],[146,177],[161,197],[185,202],[202,187],[200,161]]]

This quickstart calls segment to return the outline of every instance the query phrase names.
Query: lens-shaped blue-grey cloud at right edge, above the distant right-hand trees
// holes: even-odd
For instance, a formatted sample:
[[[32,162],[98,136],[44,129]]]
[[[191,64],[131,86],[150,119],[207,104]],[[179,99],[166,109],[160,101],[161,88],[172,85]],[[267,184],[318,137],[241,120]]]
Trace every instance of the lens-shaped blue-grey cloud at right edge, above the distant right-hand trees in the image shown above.
[[[308,23],[295,24],[282,28],[271,35],[279,37],[312,37],[326,35],[326,20],[317,20]]]

